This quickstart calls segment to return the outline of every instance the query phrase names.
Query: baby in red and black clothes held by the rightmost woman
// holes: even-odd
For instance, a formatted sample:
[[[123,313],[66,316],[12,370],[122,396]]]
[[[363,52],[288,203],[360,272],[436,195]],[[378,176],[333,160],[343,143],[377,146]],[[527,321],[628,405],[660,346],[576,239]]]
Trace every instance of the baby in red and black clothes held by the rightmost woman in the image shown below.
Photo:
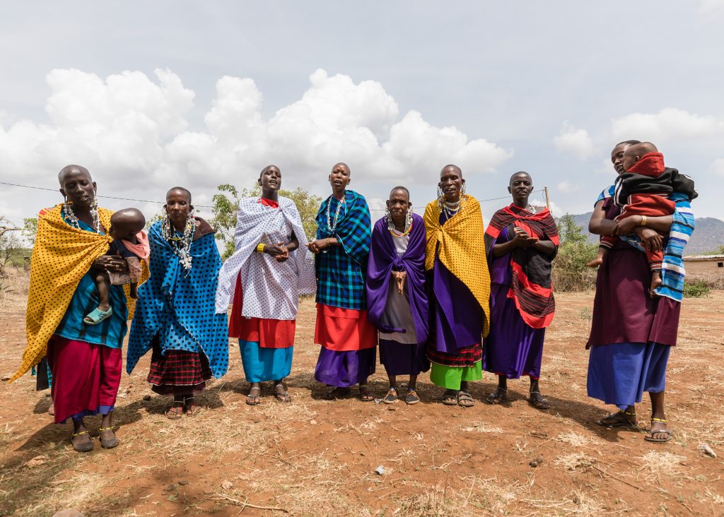
[[[675,168],[664,166],[664,156],[651,142],[631,145],[623,152],[623,174],[615,182],[613,202],[622,207],[615,221],[622,221],[631,215],[641,215],[639,226],[646,226],[648,217],[672,215],[675,203],[668,199],[672,192],[688,195],[693,200],[697,194],[694,180],[680,174]],[[665,237],[665,235],[662,235]],[[617,236],[601,236],[596,258],[588,266],[602,265],[608,250],[618,241]],[[651,267],[649,293],[661,285],[661,267],[664,252],[646,251]]]

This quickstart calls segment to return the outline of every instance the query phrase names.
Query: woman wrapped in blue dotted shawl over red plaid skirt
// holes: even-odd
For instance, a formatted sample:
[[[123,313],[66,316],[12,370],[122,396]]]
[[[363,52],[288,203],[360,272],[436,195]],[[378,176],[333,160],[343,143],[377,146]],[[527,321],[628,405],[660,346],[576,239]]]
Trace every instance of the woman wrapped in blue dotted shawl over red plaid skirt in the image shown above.
[[[198,413],[195,394],[211,375],[227,371],[227,320],[214,311],[216,275],[222,260],[214,230],[194,217],[191,193],[174,187],[166,194],[166,216],[151,226],[151,279],[140,299],[128,339],[126,371],[152,350],[151,390],[172,395],[169,419]]]

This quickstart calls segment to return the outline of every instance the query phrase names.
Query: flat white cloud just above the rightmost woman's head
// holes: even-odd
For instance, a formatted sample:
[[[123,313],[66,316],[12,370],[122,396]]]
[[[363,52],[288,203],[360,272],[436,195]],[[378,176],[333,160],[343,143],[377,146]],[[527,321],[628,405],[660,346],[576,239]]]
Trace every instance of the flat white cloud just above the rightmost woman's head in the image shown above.
[[[611,129],[618,140],[636,139],[657,144],[675,139],[718,137],[724,134],[724,122],[679,108],[664,108],[657,114],[633,113],[613,119]]]

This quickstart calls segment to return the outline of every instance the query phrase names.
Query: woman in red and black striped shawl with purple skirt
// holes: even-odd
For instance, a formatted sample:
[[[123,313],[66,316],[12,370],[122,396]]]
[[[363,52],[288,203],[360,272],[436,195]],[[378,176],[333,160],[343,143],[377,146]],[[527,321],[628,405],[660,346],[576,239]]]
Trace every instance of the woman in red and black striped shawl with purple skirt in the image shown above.
[[[541,395],[539,378],[545,328],[555,312],[550,268],[558,248],[558,231],[547,208],[529,205],[533,192],[530,174],[510,176],[508,192],[513,203],[498,210],[485,231],[492,288],[483,368],[498,376],[497,389],[486,401],[504,401],[508,379],[528,375],[528,401],[536,409],[550,409]]]

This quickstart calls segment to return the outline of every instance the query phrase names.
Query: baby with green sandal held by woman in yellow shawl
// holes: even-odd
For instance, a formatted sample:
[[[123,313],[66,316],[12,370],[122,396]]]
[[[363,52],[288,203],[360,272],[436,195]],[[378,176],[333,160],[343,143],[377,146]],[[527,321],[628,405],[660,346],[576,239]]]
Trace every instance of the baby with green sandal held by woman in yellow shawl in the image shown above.
[[[122,286],[129,283],[131,298],[138,298],[138,281],[142,270],[140,260],[148,263],[149,255],[148,237],[143,226],[146,226],[146,218],[136,208],[124,208],[111,215],[108,234],[113,237],[113,242],[106,255],[123,257],[128,262],[128,273],[93,269],[93,281],[98,289],[99,302],[98,307],[83,318],[86,325],[98,325],[113,314],[109,299],[111,285]]]

